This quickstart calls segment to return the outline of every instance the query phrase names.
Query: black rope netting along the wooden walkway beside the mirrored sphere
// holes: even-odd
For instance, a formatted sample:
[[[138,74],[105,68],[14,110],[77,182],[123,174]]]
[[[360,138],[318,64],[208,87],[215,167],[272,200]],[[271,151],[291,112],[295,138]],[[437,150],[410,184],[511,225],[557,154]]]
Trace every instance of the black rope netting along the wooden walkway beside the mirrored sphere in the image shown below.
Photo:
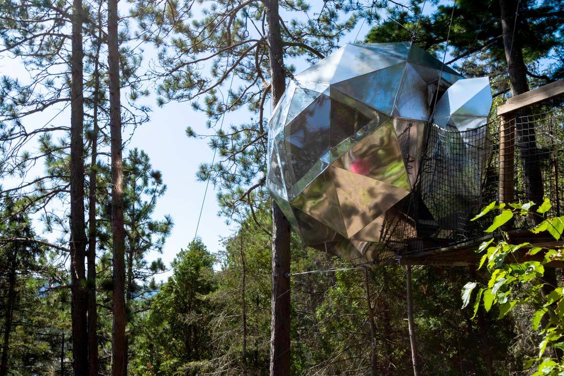
[[[501,154],[512,159],[507,170],[513,200],[553,203],[549,215],[564,214],[564,114],[561,101],[528,108],[506,119],[514,126]],[[512,122],[507,124],[507,122]],[[500,119],[478,129],[458,131],[425,126],[422,152],[409,155],[410,132],[398,135],[404,158],[421,158],[413,193],[386,215],[383,236],[397,254],[438,249],[476,240],[496,213],[470,221],[499,200]],[[409,163],[408,163],[409,164]],[[411,163],[413,165],[413,163]],[[505,183],[505,175],[501,175]],[[512,180],[512,181],[511,181]],[[519,218],[515,229],[531,227],[534,218]]]

